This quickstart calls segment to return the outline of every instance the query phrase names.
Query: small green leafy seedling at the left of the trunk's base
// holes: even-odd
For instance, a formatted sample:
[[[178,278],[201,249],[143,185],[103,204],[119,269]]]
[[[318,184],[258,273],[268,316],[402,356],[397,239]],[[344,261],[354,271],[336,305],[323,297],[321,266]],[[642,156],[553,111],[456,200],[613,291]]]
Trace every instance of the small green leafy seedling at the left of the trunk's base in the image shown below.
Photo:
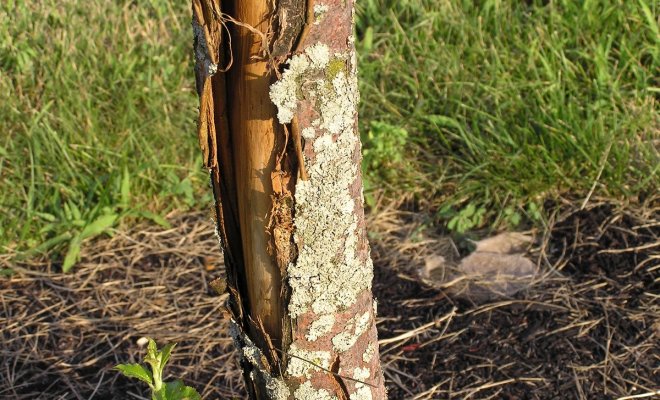
[[[170,343],[165,345],[162,350],[158,350],[156,342],[149,338],[144,362],[151,366],[151,371],[142,364],[119,364],[115,368],[124,376],[137,378],[149,385],[152,400],[201,400],[202,397],[197,390],[185,386],[180,379],[163,382],[163,370],[170,359],[174,346],[176,343]]]

